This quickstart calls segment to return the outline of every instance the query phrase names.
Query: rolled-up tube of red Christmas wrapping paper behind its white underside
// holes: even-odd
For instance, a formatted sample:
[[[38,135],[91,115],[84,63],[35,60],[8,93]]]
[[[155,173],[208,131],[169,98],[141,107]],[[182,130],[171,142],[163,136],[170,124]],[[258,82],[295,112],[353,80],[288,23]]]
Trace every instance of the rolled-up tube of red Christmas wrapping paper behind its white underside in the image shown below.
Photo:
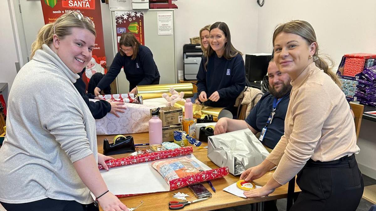
[[[182,148],[170,149],[166,151],[152,152],[147,154],[140,154],[135,156],[128,156],[124,158],[117,158],[106,161],[109,168],[115,168],[119,166],[127,166],[137,163],[144,163],[149,161],[161,160],[165,158],[178,157],[183,155],[189,155],[193,153],[192,146],[186,146]],[[99,170],[104,169],[102,165],[98,164]]]

